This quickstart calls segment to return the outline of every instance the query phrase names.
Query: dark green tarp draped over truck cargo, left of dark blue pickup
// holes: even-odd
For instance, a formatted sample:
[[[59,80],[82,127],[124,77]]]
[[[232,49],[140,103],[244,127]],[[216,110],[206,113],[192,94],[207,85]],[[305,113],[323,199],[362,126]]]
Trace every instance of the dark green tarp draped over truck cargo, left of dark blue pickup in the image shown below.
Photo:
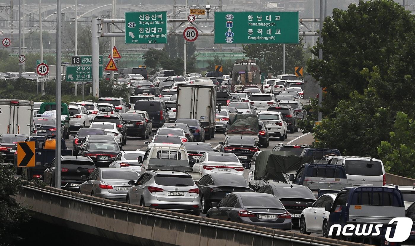
[[[313,163],[313,157],[298,156],[288,151],[261,151],[255,159],[254,179],[288,183],[284,174],[297,171],[305,163]]]

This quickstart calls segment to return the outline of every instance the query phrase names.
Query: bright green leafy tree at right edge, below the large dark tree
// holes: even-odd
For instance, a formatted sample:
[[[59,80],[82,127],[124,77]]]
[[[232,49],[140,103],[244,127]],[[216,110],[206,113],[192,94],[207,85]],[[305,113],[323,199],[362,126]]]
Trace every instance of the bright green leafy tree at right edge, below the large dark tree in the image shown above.
[[[391,139],[378,147],[385,170],[392,174],[415,178],[415,121],[408,114],[398,112]]]

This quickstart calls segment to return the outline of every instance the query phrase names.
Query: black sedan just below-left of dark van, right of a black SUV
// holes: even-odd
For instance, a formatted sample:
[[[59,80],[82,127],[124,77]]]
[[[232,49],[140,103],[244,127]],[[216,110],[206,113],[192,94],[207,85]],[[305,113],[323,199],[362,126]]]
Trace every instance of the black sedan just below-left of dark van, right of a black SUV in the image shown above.
[[[149,125],[139,113],[122,113],[128,136],[140,136],[142,140],[149,138]]]

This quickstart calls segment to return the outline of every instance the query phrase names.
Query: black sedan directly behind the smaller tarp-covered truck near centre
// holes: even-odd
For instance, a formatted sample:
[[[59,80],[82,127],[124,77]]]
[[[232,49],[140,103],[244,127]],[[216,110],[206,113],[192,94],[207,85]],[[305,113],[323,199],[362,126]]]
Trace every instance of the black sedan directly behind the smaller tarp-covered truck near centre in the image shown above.
[[[220,152],[233,153],[242,162],[250,162],[259,147],[253,137],[250,136],[229,136],[225,142],[219,142]]]

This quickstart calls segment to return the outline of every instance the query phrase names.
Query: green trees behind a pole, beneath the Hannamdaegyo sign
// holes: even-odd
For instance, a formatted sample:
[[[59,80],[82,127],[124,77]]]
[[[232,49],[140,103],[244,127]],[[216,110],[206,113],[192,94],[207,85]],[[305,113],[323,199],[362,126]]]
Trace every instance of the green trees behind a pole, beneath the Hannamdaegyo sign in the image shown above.
[[[274,75],[283,73],[283,45],[274,43],[242,45],[245,56],[259,60],[262,72],[272,72]],[[305,64],[303,43],[286,44],[286,72],[294,73],[295,67]]]

